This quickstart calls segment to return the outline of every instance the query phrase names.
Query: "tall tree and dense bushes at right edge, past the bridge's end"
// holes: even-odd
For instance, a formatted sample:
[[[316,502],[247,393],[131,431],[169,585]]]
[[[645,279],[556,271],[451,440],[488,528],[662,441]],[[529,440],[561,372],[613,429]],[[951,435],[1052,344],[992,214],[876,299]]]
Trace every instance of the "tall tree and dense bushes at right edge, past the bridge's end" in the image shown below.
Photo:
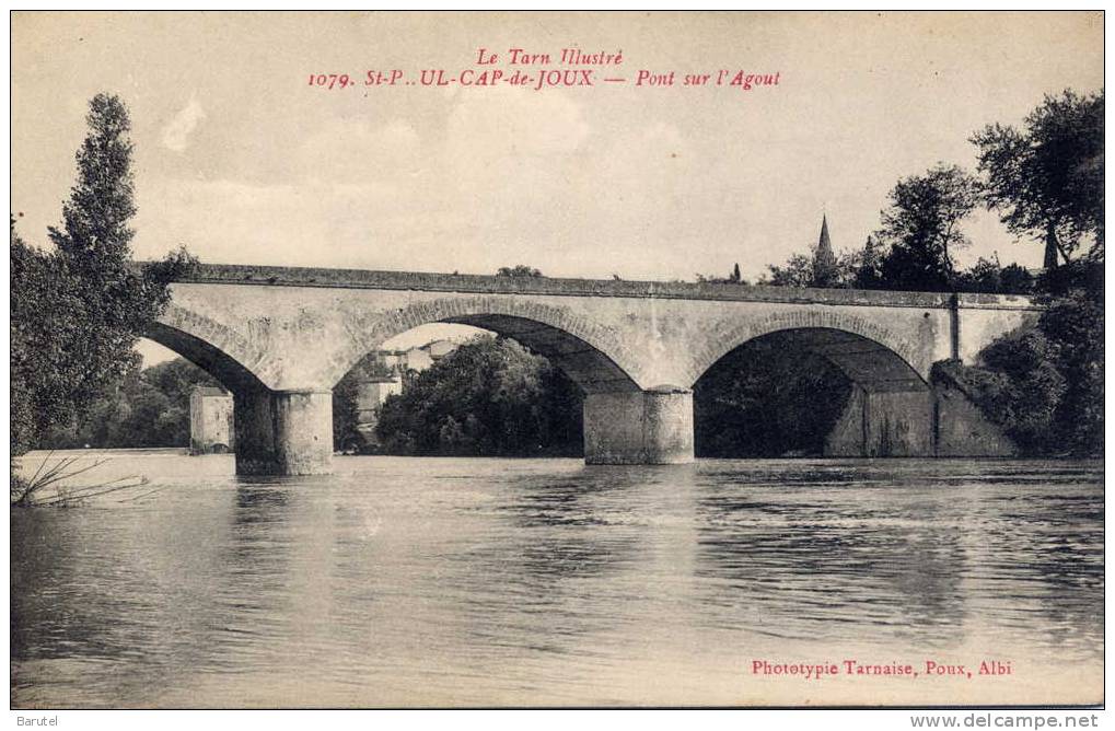
[[[1025,454],[1104,448],[1104,94],[1046,97],[1021,129],[972,137],[980,193],[1012,233],[1045,246],[1038,320],[970,366],[946,369]]]

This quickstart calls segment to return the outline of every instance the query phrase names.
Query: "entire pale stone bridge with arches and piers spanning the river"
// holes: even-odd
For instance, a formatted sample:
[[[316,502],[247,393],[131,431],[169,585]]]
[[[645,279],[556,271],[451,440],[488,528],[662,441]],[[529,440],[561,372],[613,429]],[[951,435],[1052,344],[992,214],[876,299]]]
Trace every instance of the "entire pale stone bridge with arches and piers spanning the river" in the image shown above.
[[[172,295],[148,337],[232,390],[242,474],[328,471],[332,387],[430,322],[503,333],[562,368],[585,393],[588,462],[691,460],[694,383],[778,331],[855,384],[826,454],[1004,454],[930,370],[1034,315],[1027,299],[997,295],[227,265],[200,266]]]

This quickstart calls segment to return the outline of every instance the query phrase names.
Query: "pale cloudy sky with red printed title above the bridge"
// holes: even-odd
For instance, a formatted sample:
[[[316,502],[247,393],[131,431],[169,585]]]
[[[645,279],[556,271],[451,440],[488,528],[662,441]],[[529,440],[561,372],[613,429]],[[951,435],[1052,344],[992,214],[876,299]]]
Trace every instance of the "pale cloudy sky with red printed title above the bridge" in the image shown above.
[[[563,66],[566,47],[622,62]],[[391,69],[401,82],[365,86]],[[535,90],[543,69],[593,85]],[[822,214],[835,248],[860,247],[900,178],[973,169],[985,125],[1102,85],[1101,12],[17,12],[11,206],[45,245],[109,91],[132,114],[137,259],[690,281],[738,262],[754,281],[814,245]],[[1040,264],[992,214],[966,231],[962,265]]]

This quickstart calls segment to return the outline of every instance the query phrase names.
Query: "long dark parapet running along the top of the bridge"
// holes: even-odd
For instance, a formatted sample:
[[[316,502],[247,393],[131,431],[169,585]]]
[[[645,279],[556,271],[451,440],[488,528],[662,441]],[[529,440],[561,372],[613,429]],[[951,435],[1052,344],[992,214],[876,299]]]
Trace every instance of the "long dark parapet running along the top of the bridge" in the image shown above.
[[[353,269],[198,264],[183,282],[311,286],[330,289],[418,290],[489,294],[546,294],[563,296],[657,298],[739,302],[792,302],[862,306],[952,306],[949,292],[893,292],[880,290],[823,290],[692,282],[583,280],[560,277],[486,276]],[[958,294],[958,304],[969,309],[1037,309],[1030,298],[998,294]]]

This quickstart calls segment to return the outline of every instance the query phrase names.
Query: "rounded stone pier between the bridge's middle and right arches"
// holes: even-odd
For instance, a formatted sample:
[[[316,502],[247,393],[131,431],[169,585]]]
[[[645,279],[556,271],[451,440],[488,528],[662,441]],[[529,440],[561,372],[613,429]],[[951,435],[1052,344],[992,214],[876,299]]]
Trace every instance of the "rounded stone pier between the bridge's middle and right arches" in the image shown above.
[[[661,389],[584,397],[586,465],[678,465],[692,460],[692,391]]]

